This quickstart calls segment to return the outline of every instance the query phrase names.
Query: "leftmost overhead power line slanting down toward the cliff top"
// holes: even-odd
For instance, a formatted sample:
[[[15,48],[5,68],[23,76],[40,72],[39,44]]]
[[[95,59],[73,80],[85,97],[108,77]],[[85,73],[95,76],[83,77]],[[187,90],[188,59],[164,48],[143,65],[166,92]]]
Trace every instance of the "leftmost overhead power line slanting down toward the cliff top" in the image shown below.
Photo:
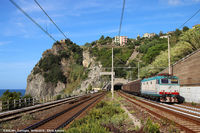
[[[31,18],[22,8],[20,8],[13,0],[10,2],[16,6],[26,17],[28,17],[34,24],[36,24],[44,33],[46,33],[52,40],[56,42],[56,39],[53,38],[45,29],[43,29],[33,18]]]

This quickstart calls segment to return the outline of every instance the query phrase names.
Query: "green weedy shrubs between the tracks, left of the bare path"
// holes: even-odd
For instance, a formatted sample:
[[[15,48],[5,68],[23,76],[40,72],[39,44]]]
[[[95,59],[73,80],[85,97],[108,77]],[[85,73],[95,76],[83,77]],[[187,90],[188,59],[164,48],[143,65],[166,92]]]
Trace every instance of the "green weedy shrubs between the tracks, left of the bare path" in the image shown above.
[[[87,116],[75,120],[67,133],[108,133],[105,124],[122,125],[127,115],[120,108],[119,103],[101,101]]]

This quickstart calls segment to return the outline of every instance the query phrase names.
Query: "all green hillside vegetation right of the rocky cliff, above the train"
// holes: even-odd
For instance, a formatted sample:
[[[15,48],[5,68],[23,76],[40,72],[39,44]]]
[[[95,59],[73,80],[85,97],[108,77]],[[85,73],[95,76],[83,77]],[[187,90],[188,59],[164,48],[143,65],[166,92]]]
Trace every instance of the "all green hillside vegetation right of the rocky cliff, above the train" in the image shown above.
[[[137,79],[137,62],[140,62],[140,76],[152,76],[167,67],[167,38],[161,36],[170,35],[171,58],[172,64],[180,60],[184,56],[197,50],[200,46],[199,26],[194,29],[183,27],[182,30],[155,35],[152,38],[128,39],[125,47],[114,47],[114,67],[135,67],[119,69],[115,68],[116,77]],[[85,47],[89,49],[90,54],[96,57],[96,61],[100,61],[104,68],[111,67],[111,37],[101,36],[99,40],[86,43]],[[139,54],[135,59],[129,59],[134,49]],[[128,61],[128,62],[127,62]],[[107,69],[110,71],[110,69]]]

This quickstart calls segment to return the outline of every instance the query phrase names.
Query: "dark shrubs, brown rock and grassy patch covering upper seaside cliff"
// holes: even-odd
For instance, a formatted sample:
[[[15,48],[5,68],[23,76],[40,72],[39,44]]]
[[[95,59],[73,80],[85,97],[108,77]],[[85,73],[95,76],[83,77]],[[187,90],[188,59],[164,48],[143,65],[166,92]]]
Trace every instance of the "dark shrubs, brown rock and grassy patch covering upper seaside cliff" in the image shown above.
[[[83,49],[66,39],[65,43],[56,42],[52,49],[43,53],[43,57],[33,69],[33,74],[43,75],[46,83],[57,85],[60,81],[67,84],[66,89],[71,92],[87,77],[82,61]]]

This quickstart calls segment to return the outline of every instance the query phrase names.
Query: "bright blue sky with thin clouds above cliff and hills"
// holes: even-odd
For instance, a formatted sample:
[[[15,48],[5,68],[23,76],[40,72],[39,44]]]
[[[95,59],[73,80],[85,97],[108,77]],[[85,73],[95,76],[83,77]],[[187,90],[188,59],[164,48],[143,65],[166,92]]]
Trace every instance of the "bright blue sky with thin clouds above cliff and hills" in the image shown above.
[[[14,0],[56,40],[63,39],[34,0]],[[78,45],[116,36],[123,0],[38,0],[67,37]],[[121,35],[175,30],[200,8],[200,0],[126,0]],[[53,40],[9,0],[0,1],[0,89],[26,88],[26,79]],[[200,14],[186,25],[200,23]]]

